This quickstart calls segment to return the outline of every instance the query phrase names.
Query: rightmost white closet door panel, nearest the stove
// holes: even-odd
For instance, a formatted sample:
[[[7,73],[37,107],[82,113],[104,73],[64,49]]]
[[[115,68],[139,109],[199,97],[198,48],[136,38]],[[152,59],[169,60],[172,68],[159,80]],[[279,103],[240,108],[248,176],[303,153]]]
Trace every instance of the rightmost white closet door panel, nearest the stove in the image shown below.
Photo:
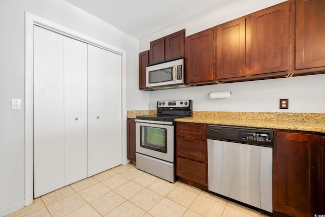
[[[121,56],[88,45],[88,176],[121,164]]]

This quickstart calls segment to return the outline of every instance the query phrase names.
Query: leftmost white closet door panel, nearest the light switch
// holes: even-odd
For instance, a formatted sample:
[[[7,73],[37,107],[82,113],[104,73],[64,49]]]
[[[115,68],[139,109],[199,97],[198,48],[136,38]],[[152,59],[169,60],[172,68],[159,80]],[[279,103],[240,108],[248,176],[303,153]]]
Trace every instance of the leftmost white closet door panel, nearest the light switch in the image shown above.
[[[63,187],[63,36],[34,26],[34,197]]]

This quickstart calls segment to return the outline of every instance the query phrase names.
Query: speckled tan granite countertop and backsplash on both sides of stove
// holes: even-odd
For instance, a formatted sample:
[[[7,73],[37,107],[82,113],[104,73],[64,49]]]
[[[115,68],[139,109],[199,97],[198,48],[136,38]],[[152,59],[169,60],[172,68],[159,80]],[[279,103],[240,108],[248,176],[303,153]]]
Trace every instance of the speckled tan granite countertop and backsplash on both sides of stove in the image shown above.
[[[155,113],[155,110],[127,111],[127,117]],[[175,121],[325,133],[325,113],[193,111],[192,117]]]

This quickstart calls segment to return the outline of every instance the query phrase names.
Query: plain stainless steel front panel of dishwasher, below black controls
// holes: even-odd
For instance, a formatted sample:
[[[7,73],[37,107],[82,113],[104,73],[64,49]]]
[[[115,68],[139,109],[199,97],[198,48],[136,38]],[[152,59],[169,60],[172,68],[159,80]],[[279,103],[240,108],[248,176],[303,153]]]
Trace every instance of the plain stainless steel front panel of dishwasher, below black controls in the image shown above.
[[[272,149],[208,139],[209,191],[272,212]]]

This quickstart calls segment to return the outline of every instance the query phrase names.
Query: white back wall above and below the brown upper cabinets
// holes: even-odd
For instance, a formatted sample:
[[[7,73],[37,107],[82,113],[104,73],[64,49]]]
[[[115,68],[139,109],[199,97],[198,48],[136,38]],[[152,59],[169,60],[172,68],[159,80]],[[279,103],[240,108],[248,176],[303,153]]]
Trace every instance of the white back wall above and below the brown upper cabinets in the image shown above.
[[[284,2],[283,0],[244,0],[234,4],[225,1],[224,8],[211,8],[180,23],[140,39],[140,51],[150,49],[150,41],[180,29],[186,36],[204,29]],[[215,84],[184,89],[151,91],[149,109],[158,100],[193,100],[194,111],[251,111],[251,112],[325,112],[325,75],[300,76],[283,79]],[[232,91],[231,98],[209,99],[209,92]],[[289,109],[279,109],[279,99],[289,99]]]

